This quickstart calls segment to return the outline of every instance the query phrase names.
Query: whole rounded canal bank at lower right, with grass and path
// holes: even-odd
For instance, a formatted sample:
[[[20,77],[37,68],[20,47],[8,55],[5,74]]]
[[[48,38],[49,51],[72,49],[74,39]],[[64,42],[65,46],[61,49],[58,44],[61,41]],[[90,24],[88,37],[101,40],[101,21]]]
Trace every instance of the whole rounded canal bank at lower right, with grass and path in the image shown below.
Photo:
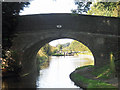
[[[97,69],[94,66],[77,68],[70,74],[70,79],[83,89],[113,88],[116,90],[118,87],[118,78],[109,72],[107,65]]]

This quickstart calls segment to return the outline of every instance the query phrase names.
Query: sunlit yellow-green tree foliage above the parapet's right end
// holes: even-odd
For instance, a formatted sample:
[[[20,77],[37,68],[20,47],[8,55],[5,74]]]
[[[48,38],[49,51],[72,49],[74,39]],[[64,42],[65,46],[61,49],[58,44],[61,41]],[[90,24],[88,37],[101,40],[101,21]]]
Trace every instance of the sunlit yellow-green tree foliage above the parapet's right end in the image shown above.
[[[100,16],[115,16],[114,10],[117,8],[119,2],[97,2],[93,3],[91,9],[88,11],[88,15],[100,15]]]

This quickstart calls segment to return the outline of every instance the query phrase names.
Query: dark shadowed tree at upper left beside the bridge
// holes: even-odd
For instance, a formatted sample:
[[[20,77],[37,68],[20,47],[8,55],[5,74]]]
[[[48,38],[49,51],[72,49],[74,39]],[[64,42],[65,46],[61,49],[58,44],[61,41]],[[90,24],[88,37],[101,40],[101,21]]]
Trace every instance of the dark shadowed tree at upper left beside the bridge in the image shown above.
[[[27,7],[29,2],[2,3],[2,48],[9,49],[12,45],[13,31],[17,26],[20,10]]]

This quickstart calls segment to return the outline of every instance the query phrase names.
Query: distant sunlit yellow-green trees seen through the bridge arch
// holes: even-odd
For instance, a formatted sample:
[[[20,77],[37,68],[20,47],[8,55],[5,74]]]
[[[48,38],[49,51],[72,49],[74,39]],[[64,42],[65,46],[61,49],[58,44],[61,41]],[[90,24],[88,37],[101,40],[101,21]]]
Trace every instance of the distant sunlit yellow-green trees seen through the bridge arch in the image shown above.
[[[79,41],[72,41],[71,43],[58,44],[57,50],[52,55],[66,54],[66,55],[79,55],[79,54],[88,54],[92,55],[88,47],[82,44]],[[58,55],[59,56],[59,55]]]

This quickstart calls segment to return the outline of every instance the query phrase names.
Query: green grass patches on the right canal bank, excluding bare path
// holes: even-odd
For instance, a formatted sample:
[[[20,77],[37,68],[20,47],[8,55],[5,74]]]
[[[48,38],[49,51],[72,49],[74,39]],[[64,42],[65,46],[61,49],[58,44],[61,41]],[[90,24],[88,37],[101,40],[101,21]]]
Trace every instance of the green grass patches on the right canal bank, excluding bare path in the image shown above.
[[[91,79],[86,78],[83,75],[80,75],[78,73],[72,73],[71,77],[73,77],[74,82],[82,82],[83,84],[86,84],[87,90],[89,90],[91,88],[102,88],[102,89],[109,88],[110,90],[117,90],[115,86],[112,86],[111,84],[105,83],[100,80],[100,79],[104,79],[104,80],[109,79],[114,75],[110,69],[110,65],[105,65],[100,68],[94,68],[93,65],[88,65],[88,66],[78,67],[78,68],[76,68],[76,70],[80,70],[80,69],[83,69],[86,67],[93,68],[92,69],[93,71],[90,72],[90,74],[94,75],[97,80],[93,80],[92,78]]]

